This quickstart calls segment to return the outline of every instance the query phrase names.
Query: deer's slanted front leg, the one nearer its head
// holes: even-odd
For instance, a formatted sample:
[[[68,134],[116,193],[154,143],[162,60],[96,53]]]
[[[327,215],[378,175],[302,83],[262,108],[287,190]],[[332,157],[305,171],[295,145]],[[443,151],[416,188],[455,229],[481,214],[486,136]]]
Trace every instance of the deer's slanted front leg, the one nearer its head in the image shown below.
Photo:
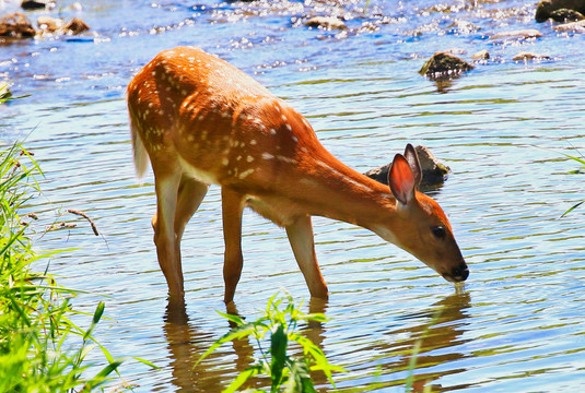
[[[317,258],[311,216],[300,216],[294,224],[286,227],[286,235],[294,252],[294,258],[305,276],[311,296],[327,299],[329,293],[323,278]]]

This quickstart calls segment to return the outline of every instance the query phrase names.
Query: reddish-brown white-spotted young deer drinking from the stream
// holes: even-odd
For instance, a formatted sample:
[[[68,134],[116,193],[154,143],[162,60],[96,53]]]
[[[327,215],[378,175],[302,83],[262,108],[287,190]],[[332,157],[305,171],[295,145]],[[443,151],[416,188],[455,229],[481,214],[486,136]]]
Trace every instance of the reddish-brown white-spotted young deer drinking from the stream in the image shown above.
[[[327,298],[312,216],[370,229],[449,282],[468,267],[447,217],[417,191],[421,169],[409,144],[394,157],[388,186],[349,168],[307,120],[254,79],[196,47],[164,50],[128,85],[134,164],[150,158],[159,263],[171,296],[183,296],[180,239],[210,184],[221,186],[224,301],[239,281],[246,206],[285,228],[311,295]]]

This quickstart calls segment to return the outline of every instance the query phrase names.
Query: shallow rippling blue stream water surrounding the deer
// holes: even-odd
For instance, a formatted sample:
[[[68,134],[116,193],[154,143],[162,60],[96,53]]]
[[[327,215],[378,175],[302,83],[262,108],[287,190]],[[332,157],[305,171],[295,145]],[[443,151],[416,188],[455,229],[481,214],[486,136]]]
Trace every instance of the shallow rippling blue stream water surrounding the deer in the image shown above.
[[[219,189],[212,187],[187,227],[183,258],[186,309],[166,309],[150,217],[152,175],[134,179],[124,91],[160,50],[198,45],[243,69],[304,114],[325,146],[365,171],[405,144],[423,144],[453,170],[435,198],[447,212],[471,275],[454,288],[375,235],[315,218],[317,254],[331,297],[308,300],[330,320],[306,331],[329,360],[341,392],[401,392],[414,343],[416,390],[578,391],[585,382],[585,224],[583,174],[563,153],[585,151],[582,48],[585,35],[534,22],[522,1],[165,3],[103,0],[81,16],[95,35],[45,37],[1,47],[0,75],[15,95],[0,108],[0,141],[26,136],[45,177],[38,247],[73,249],[51,261],[61,283],[101,295],[112,321],[96,336],[128,361],[124,379],[138,392],[219,392],[253,361],[251,344],[225,345],[194,368],[229,330],[224,310]],[[297,22],[338,13],[347,33]],[[43,13],[31,13],[36,19]],[[473,25],[453,27],[457,21]],[[493,41],[492,33],[537,28],[543,37]],[[417,73],[435,50],[491,59],[448,84]],[[550,60],[514,62],[520,50]],[[97,225],[95,237],[79,209]],[[44,228],[54,221],[70,230]],[[279,288],[308,299],[285,234],[246,212],[239,313],[254,318]],[[438,317],[436,317],[438,315]],[[256,354],[257,355],[257,354]],[[93,360],[104,361],[97,352]],[[323,391],[327,381],[316,376]],[[260,386],[261,382],[257,382]]]

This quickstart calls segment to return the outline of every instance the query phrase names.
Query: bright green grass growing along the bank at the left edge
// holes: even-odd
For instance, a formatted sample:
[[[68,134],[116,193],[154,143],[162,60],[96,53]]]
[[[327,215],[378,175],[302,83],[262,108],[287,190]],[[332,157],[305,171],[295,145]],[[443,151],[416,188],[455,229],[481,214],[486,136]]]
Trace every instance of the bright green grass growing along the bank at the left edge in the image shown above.
[[[102,386],[125,359],[112,357],[92,335],[104,302],[82,329],[70,319],[80,314],[71,305],[78,291],[57,284],[47,272],[31,270],[32,263],[48,266],[44,260],[56,257],[33,250],[20,216],[23,203],[39,192],[39,175],[21,145],[0,152],[0,392],[89,392]],[[85,358],[96,347],[107,366],[87,377],[92,365]]]

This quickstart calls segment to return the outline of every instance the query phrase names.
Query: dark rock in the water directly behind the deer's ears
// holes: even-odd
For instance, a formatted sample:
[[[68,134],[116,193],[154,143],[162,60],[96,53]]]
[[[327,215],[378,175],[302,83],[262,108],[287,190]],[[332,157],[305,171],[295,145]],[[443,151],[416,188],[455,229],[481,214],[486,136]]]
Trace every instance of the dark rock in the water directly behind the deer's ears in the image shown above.
[[[419,145],[414,147],[414,150],[419,156],[422,170],[422,180],[419,184],[419,189],[424,191],[443,184],[451,172],[451,168],[440,163],[429,148]],[[375,169],[370,169],[364,175],[383,184],[388,184],[388,171],[390,170],[390,167],[391,163]]]

